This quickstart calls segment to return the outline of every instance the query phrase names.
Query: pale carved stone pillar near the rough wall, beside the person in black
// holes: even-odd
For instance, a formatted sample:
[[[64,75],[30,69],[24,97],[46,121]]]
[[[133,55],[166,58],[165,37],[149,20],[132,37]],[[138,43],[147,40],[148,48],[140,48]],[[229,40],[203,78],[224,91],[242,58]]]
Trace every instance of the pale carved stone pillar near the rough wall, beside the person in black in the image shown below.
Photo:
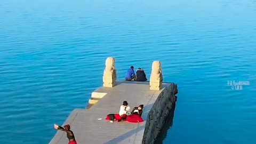
[[[154,61],[152,63],[152,70],[150,75],[150,90],[161,90],[163,83],[163,75],[161,69],[161,62]]]

